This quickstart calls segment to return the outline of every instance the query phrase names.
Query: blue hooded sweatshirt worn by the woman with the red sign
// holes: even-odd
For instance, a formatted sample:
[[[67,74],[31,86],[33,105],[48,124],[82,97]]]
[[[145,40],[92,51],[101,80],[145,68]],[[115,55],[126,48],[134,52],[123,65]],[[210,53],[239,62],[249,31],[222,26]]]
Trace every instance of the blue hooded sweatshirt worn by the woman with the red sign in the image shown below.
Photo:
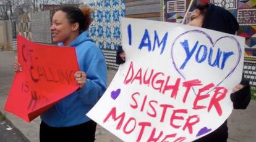
[[[80,71],[87,74],[87,80],[85,87],[71,93],[41,114],[43,122],[51,127],[70,127],[89,121],[90,118],[85,114],[92,109],[107,87],[105,58],[88,37],[88,32],[80,34],[69,46],[75,47]]]

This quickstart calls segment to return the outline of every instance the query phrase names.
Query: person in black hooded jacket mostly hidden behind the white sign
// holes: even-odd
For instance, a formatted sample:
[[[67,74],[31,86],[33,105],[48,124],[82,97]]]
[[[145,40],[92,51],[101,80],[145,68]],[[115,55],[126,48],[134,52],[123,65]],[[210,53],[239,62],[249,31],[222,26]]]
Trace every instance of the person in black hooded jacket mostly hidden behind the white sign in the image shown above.
[[[236,18],[228,11],[213,4],[198,4],[192,12],[191,26],[198,26],[210,30],[221,31],[229,34],[236,34],[239,24]],[[121,57],[122,55],[122,57]],[[116,63],[120,65],[125,62],[124,50],[120,46],[117,50]],[[231,101],[234,109],[245,109],[250,103],[250,85],[249,81],[244,78],[233,88]],[[228,139],[227,120],[214,132],[209,133],[194,142],[226,142]]]

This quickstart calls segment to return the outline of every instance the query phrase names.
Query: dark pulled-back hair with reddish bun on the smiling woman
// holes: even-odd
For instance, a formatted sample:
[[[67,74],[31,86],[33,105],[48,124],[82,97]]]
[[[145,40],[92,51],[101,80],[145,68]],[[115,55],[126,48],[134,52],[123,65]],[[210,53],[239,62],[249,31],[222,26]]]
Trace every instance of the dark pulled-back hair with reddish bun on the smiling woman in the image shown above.
[[[62,12],[67,14],[67,18],[70,23],[79,23],[79,32],[88,30],[90,24],[92,23],[92,10],[89,6],[83,6],[81,9],[74,6],[64,6],[60,9]]]

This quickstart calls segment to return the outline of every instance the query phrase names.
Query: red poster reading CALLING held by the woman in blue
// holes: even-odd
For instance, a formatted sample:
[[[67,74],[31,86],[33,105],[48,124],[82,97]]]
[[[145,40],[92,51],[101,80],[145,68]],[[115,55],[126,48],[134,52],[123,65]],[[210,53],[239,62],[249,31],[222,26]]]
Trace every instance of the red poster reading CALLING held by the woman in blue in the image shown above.
[[[4,109],[30,122],[78,89],[79,66],[74,47],[36,44],[22,36],[17,45],[22,71],[15,74]]]

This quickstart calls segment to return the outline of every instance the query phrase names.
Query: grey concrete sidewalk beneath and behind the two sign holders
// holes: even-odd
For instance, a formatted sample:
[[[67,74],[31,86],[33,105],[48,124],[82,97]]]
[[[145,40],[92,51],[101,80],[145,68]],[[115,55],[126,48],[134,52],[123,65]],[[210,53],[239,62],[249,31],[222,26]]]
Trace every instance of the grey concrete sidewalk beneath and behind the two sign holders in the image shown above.
[[[15,52],[0,51],[0,111],[12,124],[32,142],[39,142],[40,118],[27,123],[8,112],[4,111],[4,104],[14,77],[13,64]],[[116,72],[108,71],[108,84]],[[211,122],[209,122],[211,123]],[[256,141],[256,101],[251,101],[245,110],[233,110],[228,120],[230,142]],[[120,142],[119,138],[98,126],[96,130],[96,142]]]

